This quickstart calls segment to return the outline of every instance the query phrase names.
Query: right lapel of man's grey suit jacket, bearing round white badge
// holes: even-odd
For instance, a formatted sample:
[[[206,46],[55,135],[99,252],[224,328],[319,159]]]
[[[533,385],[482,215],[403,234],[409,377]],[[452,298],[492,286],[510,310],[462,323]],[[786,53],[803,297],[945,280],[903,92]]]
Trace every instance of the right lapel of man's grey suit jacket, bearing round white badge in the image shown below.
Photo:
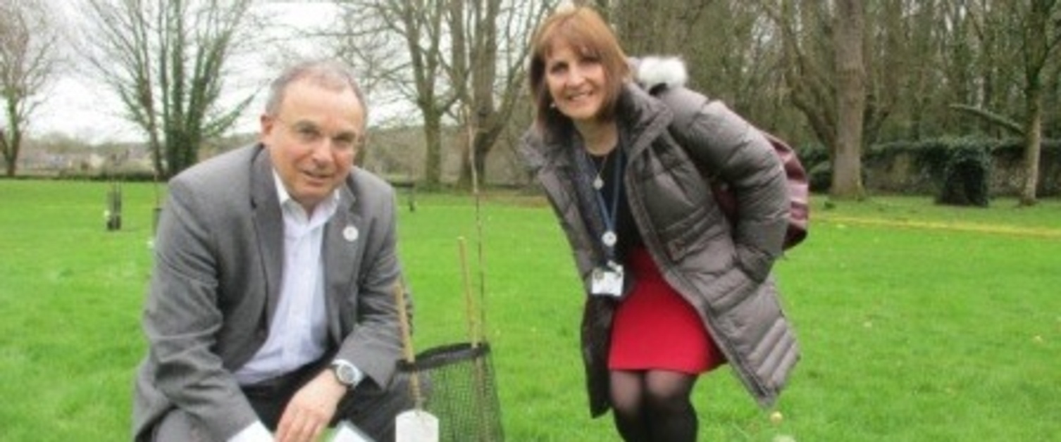
[[[340,201],[335,214],[328,222],[323,245],[325,255],[325,297],[328,303],[328,332],[332,339],[342,342],[344,330],[354,322],[350,298],[351,284],[356,273],[358,250],[365,241],[364,218],[356,212],[358,200],[348,185],[340,187]]]

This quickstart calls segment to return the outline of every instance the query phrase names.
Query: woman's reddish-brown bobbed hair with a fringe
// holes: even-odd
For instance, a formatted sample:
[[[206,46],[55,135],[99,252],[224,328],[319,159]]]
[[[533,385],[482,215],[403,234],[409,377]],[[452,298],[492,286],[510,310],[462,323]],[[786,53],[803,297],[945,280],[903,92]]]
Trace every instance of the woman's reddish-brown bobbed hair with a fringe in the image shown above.
[[[570,45],[582,56],[601,60],[607,84],[599,119],[611,119],[623,84],[630,77],[626,54],[615,33],[599,14],[586,6],[563,6],[538,26],[530,41],[530,95],[535,102],[535,122],[543,132],[569,126],[571,120],[555,108],[545,85],[545,61],[558,42]]]

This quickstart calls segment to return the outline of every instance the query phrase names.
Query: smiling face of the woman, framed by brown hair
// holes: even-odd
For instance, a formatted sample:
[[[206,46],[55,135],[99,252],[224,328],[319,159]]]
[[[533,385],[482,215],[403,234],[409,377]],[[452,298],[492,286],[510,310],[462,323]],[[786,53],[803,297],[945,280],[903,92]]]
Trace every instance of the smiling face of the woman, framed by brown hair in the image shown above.
[[[581,55],[564,41],[545,56],[545,84],[556,109],[575,123],[591,123],[601,114],[607,75],[597,58]]]

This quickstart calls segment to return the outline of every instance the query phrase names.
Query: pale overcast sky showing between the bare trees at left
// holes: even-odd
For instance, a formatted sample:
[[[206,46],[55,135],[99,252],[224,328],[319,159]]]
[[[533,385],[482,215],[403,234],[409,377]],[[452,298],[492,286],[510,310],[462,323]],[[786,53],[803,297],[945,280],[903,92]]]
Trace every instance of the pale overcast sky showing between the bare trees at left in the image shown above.
[[[49,0],[60,11],[66,11],[59,17],[67,21],[69,28],[79,26],[80,14],[69,0]],[[332,6],[321,2],[266,2],[256,6],[257,11],[280,20],[280,25],[266,30],[279,35],[290,33],[295,29],[309,29],[320,25],[335,17]],[[54,10],[53,10],[54,11]],[[299,55],[311,57],[320,55],[313,53],[319,48],[306,46],[299,48]],[[237,98],[245,98],[260,88],[276,72],[267,67],[269,55],[278,51],[256,51],[257,56],[251,64],[258,68],[241,69],[241,78],[232,78],[226,84],[234,84],[239,91],[227,95],[229,103]],[[70,64],[76,64],[75,57],[67,57]],[[275,61],[275,60],[274,60]],[[31,137],[40,137],[49,132],[58,132],[74,137],[90,143],[106,141],[134,141],[143,139],[142,134],[131,123],[121,118],[121,103],[106,87],[85,74],[81,68],[70,69],[71,72],[58,76],[49,86],[44,95],[45,101],[31,116],[29,126]],[[257,129],[258,116],[263,107],[263,93],[256,96],[247,107],[244,116],[237,123],[237,130],[254,131]]]

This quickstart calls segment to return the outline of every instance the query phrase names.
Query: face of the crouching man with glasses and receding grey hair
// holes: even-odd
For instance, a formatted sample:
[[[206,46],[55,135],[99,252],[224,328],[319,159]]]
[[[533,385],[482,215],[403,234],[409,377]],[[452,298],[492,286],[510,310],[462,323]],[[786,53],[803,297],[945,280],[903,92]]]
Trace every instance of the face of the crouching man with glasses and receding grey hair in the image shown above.
[[[365,111],[350,88],[300,79],[276,114],[261,118],[261,141],[291,197],[308,213],[342,185],[364,137]]]

